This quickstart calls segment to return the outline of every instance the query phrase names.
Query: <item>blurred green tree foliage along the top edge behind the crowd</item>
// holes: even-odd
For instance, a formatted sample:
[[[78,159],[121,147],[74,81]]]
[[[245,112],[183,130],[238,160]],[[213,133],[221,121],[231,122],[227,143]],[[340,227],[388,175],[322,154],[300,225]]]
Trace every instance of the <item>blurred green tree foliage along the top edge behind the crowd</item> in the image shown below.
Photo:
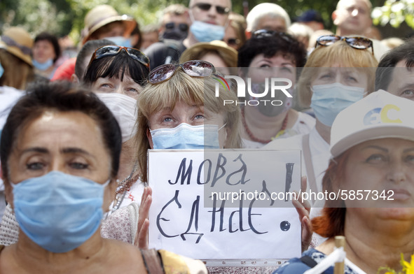
[[[189,0],[0,0],[0,28],[21,25],[32,34],[50,31],[58,36],[69,34],[79,41],[83,29],[83,18],[88,10],[99,4],[109,4],[118,13],[132,15],[140,26],[158,22],[163,8],[172,3],[188,5]],[[244,5],[251,9],[258,3],[268,0],[232,0],[233,10],[244,14]],[[373,6],[384,0],[371,0]],[[331,13],[338,0],[275,0],[286,9],[290,17],[300,16],[310,8],[319,10],[324,18],[326,29],[333,29]],[[379,3],[378,3],[379,2]],[[374,24],[385,25],[389,22],[399,27],[406,21],[414,28],[413,0],[386,0],[384,6],[373,9]]]

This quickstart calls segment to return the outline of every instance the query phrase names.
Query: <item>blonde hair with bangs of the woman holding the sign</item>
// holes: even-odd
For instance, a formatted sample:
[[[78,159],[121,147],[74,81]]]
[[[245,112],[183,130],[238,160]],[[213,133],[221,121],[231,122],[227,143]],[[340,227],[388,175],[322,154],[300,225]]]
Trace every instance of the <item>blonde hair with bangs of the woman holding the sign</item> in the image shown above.
[[[159,84],[149,83],[139,95],[137,134],[135,143],[138,147],[137,159],[142,173],[142,182],[147,182],[147,150],[150,144],[147,138],[149,131],[149,120],[152,115],[158,113],[163,108],[174,109],[176,104],[181,101],[188,105],[204,106],[212,113],[224,115],[224,124],[228,132],[225,148],[242,147],[240,136],[240,108],[235,104],[224,105],[224,100],[237,101],[235,92],[225,89],[219,84],[219,97],[215,96],[216,80],[215,76],[191,77],[184,73],[181,68],[172,75],[169,80]]]

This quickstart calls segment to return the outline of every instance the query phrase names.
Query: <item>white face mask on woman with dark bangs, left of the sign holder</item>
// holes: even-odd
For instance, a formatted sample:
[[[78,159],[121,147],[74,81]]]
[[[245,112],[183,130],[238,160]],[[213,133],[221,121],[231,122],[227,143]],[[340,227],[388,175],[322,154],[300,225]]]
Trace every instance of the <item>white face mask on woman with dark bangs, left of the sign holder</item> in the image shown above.
[[[137,100],[118,93],[98,93],[97,96],[115,116],[122,134],[122,142],[130,140],[137,122]]]

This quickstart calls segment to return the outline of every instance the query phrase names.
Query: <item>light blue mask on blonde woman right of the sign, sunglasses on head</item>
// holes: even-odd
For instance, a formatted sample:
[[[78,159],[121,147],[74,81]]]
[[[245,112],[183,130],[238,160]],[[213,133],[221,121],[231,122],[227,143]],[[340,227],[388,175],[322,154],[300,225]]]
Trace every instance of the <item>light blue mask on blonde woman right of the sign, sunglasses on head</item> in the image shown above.
[[[342,110],[364,97],[365,89],[350,87],[335,82],[329,85],[314,85],[310,107],[315,112],[317,120],[332,127],[333,120]]]

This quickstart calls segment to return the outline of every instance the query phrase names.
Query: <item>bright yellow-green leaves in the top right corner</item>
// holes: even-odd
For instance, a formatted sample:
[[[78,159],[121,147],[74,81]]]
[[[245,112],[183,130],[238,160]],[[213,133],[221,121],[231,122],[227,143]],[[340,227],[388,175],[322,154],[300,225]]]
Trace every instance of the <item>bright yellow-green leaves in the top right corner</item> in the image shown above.
[[[414,29],[414,1],[412,0],[386,0],[384,6],[373,9],[373,23],[389,23],[392,27],[399,27],[402,22],[406,22],[409,27]]]

